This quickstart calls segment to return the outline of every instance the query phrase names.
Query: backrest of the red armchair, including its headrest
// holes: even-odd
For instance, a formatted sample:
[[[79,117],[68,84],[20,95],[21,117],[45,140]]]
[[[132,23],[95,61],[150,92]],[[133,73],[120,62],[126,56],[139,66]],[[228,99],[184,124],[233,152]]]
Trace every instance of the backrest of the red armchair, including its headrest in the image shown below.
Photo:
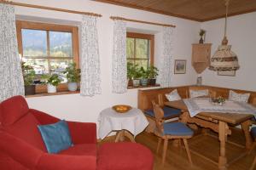
[[[26,99],[15,96],[0,104],[1,130],[44,150],[44,142],[38,131],[40,123],[30,112]]]

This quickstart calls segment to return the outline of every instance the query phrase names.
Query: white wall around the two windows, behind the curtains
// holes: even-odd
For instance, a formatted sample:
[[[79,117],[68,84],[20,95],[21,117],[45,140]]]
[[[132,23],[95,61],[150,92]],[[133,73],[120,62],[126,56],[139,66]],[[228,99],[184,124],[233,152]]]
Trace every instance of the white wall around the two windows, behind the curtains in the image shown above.
[[[137,89],[128,90],[125,94],[112,94],[111,92],[111,63],[113,47],[113,21],[111,15],[123,16],[137,20],[148,20],[176,25],[174,34],[174,59],[187,59],[187,74],[173,75],[173,86],[189,85],[195,83],[196,74],[191,68],[191,43],[198,41],[200,23],[190,20],[177,19],[162,14],[154,14],[132,8],[114,6],[106,3],[96,3],[88,0],[16,0],[20,3],[32,3],[51,6],[55,8],[68,8],[73,10],[88,11],[102,14],[98,19],[99,48],[102,71],[102,94],[95,97],[82,97],[79,94],[56,95],[47,97],[28,98],[30,107],[46,111],[53,116],[79,122],[97,122],[100,111],[111,105],[126,104],[137,106]],[[50,2],[50,3],[49,3]],[[61,2],[61,3],[60,3]],[[79,14],[67,14],[35,8],[15,8],[18,17],[28,20],[55,21],[76,24],[81,20]],[[26,17],[24,17],[26,16]],[[49,20],[50,19],[50,20]],[[38,19],[37,19],[38,20]],[[161,53],[161,27],[144,24],[128,23],[130,29],[139,29],[155,33],[155,62],[159,65]]]

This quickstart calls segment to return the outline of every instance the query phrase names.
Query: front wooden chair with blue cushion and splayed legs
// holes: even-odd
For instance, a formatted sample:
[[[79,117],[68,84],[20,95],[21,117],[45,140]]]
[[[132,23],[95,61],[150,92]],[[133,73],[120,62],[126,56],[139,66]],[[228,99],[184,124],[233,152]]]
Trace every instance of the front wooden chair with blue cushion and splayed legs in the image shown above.
[[[194,132],[185,124],[183,124],[183,122],[164,122],[164,111],[162,110],[160,105],[157,105],[154,101],[152,101],[152,104],[154,107],[154,116],[156,124],[154,134],[159,137],[156,153],[159,152],[160,143],[162,139],[164,140],[162,164],[164,165],[166,161],[168,140],[183,139],[183,143],[185,145],[185,149],[189,157],[189,163],[192,165],[192,160],[189,152],[189,144],[187,139],[190,139],[193,136]]]

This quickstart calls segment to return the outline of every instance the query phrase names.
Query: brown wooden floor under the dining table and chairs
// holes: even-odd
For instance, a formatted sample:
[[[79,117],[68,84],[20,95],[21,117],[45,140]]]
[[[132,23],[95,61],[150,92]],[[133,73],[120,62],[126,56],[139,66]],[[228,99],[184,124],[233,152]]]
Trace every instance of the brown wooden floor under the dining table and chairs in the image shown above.
[[[196,152],[199,152],[215,161],[218,161],[219,142],[216,137],[216,133],[210,132],[202,134],[201,131],[197,132],[193,139],[189,139],[189,149],[195,150]],[[114,137],[109,137],[104,139],[100,144],[104,142],[113,142],[113,140]],[[237,128],[232,129],[232,135],[228,140],[242,145],[245,143],[241,130],[238,130]],[[160,164],[161,150],[159,154],[155,153],[157,145],[156,136],[154,136],[153,133],[143,132],[137,135],[136,141],[137,143],[143,144],[147,146],[148,149],[152,150],[154,154],[154,170],[218,170],[218,165],[212,163],[212,161],[203,159],[201,156],[198,156],[193,152],[191,153],[191,156],[194,165],[190,166],[183,146],[173,146],[172,140],[170,140],[168,144],[166,164],[164,167],[162,167]],[[244,152],[243,148],[234,144],[227,144],[226,148],[228,161],[233,160],[236,156],[239,156]],[[254,156],[256,156],[256,150],[253,150],[250,155],[243,156],[238,161],[231,163],[231,165],[228,167],[228,170],[248,170],[249,167],[251,167]]]

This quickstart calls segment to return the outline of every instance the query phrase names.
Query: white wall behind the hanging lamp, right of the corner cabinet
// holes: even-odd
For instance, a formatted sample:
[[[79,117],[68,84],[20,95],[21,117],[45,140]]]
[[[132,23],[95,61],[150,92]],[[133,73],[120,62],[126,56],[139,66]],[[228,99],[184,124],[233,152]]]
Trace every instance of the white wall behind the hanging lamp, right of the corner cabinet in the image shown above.
[[[204,22],[201,28],[207,30],[206,39],[212,43],[213,54],[224,37],[224,19]],[[241,68],[236,71],[236,77],[218,76],[215,71],[204,71],[204,84],[256,91],[256,13],[229,17],[227,36]]]

